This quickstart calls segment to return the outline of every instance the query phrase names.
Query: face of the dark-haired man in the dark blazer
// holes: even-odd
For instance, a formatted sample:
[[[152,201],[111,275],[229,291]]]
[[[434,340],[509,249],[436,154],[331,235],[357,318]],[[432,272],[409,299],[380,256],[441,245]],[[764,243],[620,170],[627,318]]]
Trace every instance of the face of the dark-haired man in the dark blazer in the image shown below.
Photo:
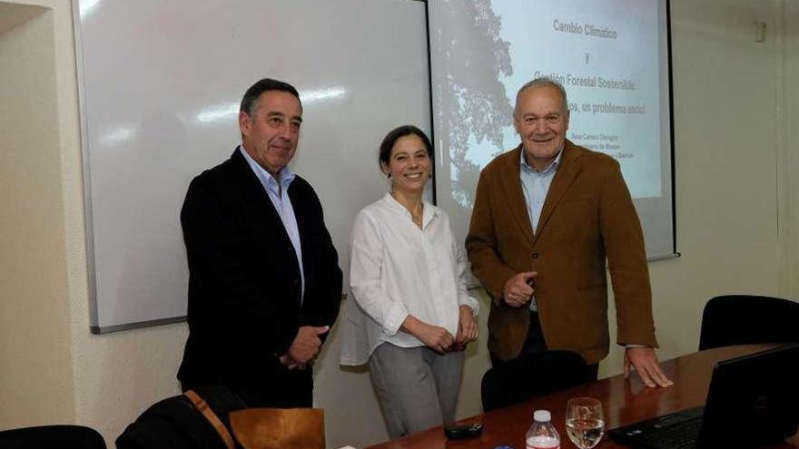
[[[239,112],[244,149],[264,170],[277,178],[288,165],[300,141],[302,107],[291,93],[261,93],[252,116]]]

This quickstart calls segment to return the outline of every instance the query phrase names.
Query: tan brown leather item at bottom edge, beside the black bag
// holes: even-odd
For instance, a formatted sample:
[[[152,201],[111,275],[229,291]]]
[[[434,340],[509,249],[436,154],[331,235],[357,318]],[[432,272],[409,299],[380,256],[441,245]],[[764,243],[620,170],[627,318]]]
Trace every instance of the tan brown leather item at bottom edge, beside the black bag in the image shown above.
[[[325,448],[321,408],[245,408],[230,419],[244,449]]]

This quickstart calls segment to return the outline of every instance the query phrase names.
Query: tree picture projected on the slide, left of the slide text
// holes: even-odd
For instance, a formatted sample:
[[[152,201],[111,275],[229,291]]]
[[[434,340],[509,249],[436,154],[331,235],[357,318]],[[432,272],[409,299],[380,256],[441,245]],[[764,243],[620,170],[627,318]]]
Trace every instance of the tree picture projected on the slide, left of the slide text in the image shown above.
[[[502,129],[512,123],[513,107],[500,75],[510,76],[510,43],[500,37],[501,18],[491,0],[437,0],[445,15],[431,29],[434,71],[433,101],[439,106],[434,117],[439,143],[437,179],[450,180],[455,208],[470,210],[474,202],[480,167],[469,159],[469,143],[489,146],[497,155],[502,147]],[[454,35],[454,30],[471,30]],[[464,37],[469,36],[469,37]],[[453,100],[454,99],[454,100]],[[449,160],[449,161],[448,161]]]

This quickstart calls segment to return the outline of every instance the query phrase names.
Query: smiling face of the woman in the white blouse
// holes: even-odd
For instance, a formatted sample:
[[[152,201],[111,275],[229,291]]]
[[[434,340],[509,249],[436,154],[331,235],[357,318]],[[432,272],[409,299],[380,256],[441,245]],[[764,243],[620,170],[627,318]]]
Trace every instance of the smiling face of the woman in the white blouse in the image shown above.
[[[394,191],[421,192],[430,178],[430,157],[419,136],[402,136],[391,147],[389,165],[383,171],[390,175]]]

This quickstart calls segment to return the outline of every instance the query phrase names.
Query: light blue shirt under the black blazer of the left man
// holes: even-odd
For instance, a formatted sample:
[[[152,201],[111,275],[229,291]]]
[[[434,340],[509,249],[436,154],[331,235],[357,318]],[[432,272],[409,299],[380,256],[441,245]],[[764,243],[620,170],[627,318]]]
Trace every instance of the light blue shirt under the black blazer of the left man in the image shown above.
[[[301,296],[300,301],[305,298],[305,270],[302,268],[302,247],[300,244],[300,228],[297,226],[297,218],[294,216],[294,208],[291,206],[289,198],[289,186],[294,177],[297,176],[289,166],[285,166],[278,172],[280,184],[274,179],[269,171],[265,171],[258,162],[252,159],[250,153],[244,150],[244,145],[239,146],[244,159],[250,164],[252,172],[261,181],[263,189],[269,194],[269,199],[283,222],[283,229],[289,234],[291,245],[294,247],[294,254],[297,255],[297,263],[300,266]]]

